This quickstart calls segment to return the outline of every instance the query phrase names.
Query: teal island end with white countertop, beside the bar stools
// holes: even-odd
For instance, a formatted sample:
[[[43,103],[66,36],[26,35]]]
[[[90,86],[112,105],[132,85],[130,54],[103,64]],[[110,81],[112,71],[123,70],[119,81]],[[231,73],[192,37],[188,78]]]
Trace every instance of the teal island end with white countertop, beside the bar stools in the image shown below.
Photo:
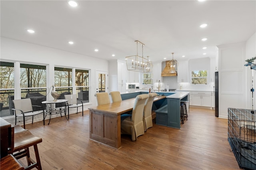
[[[180,102],[189,105],[189,91],[175,91],[166,97],[167,105],[157,109],[156,124],[173,128],[180,128]]]

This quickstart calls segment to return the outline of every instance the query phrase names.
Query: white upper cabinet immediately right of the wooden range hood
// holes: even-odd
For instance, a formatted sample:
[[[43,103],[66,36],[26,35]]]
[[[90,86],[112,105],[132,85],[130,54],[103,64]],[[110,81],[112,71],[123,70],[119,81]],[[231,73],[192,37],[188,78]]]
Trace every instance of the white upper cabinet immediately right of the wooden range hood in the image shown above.
[[[178,83],[188,82],[188,61],[178,61]]]

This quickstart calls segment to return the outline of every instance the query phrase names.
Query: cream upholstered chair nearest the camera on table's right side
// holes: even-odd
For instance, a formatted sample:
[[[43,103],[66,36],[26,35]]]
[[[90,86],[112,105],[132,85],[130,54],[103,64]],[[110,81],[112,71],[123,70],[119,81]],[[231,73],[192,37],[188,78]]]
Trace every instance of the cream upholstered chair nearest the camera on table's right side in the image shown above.
[[[132,114],[121,115],[121,134],[132,135],[132,141],[144,134],[143,110],[149,95],[138,95],[135,99]]]

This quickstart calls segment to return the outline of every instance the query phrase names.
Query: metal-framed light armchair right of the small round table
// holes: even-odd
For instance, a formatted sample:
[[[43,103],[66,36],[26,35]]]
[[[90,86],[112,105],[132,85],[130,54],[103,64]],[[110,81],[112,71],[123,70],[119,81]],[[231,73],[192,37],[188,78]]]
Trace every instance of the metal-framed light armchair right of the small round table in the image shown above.
[[[69,115],[69,108],[76,108],[76,114],[77,114],[78,113],[78,107],[82,107],[82,116],[84,116],[83,101],[77,99],[76,94],[74,94],[74,95],[64,95],[64,97],[65,97],[66,100],[68,100],[68,115]]]

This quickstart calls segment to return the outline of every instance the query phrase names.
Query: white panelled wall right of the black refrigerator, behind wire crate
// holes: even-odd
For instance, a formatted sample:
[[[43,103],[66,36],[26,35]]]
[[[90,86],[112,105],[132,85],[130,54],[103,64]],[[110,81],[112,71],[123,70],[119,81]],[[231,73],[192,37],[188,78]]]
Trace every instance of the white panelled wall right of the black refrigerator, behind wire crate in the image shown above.
[[[218,45],[219,117],[228,117],[228,108],[252,109],[252,71],[244,66],[256,52],[255,34],[247,42]],[[248,56],[252,55],[252,56]]]

